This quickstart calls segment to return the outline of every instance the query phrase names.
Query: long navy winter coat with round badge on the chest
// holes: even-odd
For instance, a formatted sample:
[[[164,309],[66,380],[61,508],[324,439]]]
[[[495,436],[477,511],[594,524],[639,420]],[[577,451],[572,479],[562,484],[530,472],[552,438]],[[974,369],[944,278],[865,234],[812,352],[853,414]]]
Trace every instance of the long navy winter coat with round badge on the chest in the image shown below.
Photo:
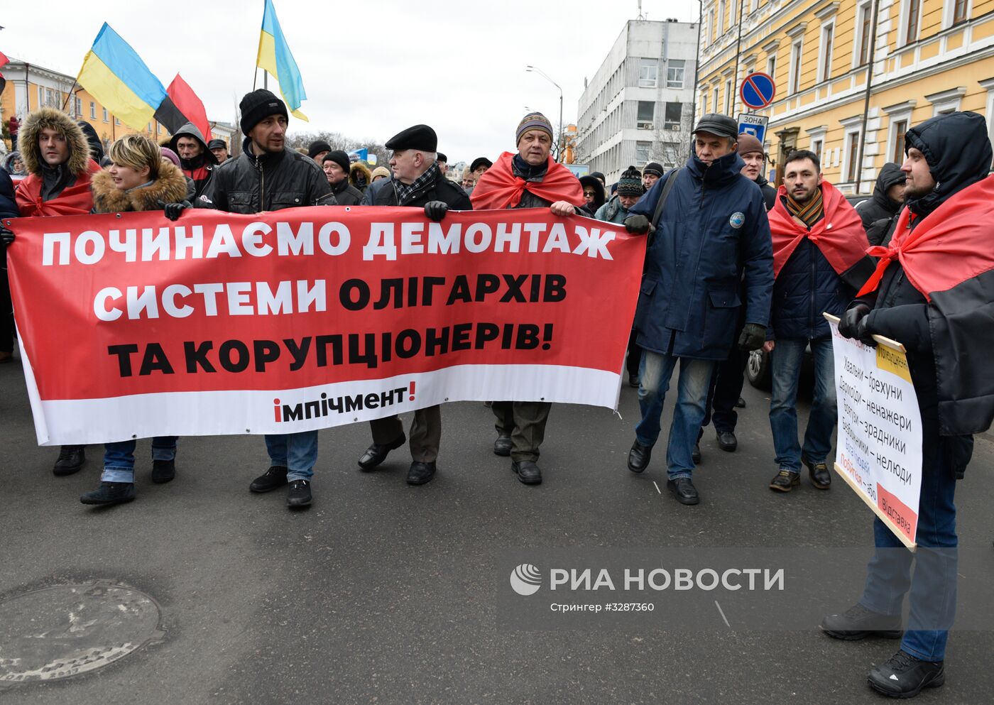
[[[741,305],[747,322],[767,324],[772,242],[762,192],[740,173],[744,166],[735,152],[710,167],[691,155],[686,167],[656,181],[630,209],[629,215],[651,220],[666,182],[677,179],[646,252],[635,314],[643,348],[725,360]]]

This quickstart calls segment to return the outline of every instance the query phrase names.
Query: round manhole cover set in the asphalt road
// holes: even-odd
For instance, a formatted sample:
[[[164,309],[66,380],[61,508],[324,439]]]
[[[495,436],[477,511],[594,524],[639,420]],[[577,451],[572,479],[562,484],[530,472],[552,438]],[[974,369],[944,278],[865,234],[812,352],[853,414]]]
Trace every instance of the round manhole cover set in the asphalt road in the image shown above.
[[[162,639],[159,606],[109,581],[60,585],[0,602],[0,687],[102,668]]]

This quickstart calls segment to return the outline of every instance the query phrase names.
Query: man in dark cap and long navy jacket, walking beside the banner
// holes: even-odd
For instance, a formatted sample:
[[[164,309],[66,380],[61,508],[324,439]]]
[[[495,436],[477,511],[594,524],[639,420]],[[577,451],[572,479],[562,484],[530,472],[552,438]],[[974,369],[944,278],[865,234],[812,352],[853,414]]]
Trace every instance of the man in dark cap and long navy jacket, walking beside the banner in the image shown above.
[[[635,428],[628,469],[642,472],[649,464],[679,361],[666,485],[682,504],[700,501],[691,480],[692,453],[712,369],[729,355],[740,306],[745,305],[746,322],[739,346],[756,350],[766,337],[773,288],[769,224],[762,193],[741,173],[745,161],[736,151],[738,135],[739,124],[731,117],[704,115],[694,129],[694,154],[686,166],[659,179],[624,224],[629,233],[654,229],[635,314],[644,350],[638,389],[642,420]],[[664,191],[665,207],[658,209]]]

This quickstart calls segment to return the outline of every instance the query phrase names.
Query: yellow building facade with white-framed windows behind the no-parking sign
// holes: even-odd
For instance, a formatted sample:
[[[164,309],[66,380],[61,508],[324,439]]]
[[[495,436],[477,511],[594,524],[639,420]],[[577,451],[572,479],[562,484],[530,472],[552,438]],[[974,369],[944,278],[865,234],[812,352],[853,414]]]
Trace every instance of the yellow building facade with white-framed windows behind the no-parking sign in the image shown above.
[[[769,118],[774,182],[811,149],[827,181],[871,193],[905,131],[941,112],[978,112],[994,136],[994,0],[705,0],[700,62],[698,114]],[[776,84],[759,110],[739,93],[752,72]]]

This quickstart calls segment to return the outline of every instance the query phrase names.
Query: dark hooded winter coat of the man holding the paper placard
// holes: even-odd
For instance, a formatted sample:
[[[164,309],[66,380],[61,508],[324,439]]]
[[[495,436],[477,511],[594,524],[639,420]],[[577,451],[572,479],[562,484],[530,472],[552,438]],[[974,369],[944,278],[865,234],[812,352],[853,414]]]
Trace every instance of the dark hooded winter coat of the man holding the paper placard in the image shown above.
[[[972,117],[971,117],[972,115]],[[909,199],[909,229],[948,198],[987,177],[991,146],[983,118],[954,112],[925,120],[908,131],[907,144],[924,154],[936,188]],[[990,247],[989,243],[982,244]],[[908,350],[911,382],[918,399],[922,422],[939,419],[939,398],[945,411],[940,419],[943,436],[967,433],[981,418],[990,418],[994,405],[994,377],[984,367],[994,336],[990,325],[994,310],[994,270],[967,279],[943,292],[932,292],[931,303],[908,280],[902,264],[895,260],[884,273],[877,291],[854,302],[870,305],[870,330],[901,342]],[[851,304],[852,305],[852,304]],[[966,316],[973,318],[965,320]],[[960,318],[953,330],[949,322]],[[940,364],[961,369],[947,374],[940,395],[936,375]],[[970,370],[970,371],[967,371]],[[970,400],[957,405],[954,400]],[[927,442],[927,439],[926,439]]]

